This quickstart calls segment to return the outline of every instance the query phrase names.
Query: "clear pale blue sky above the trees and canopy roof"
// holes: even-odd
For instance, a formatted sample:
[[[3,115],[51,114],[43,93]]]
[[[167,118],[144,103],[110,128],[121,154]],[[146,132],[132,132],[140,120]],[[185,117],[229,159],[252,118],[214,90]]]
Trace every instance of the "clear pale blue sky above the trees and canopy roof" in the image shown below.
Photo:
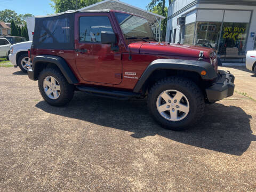
[[[150,0],[121,0],[127,4],[146,9]],[[166,1],[166,6],[167,6]],[[54,13],[50,0],[0,0],[0,11],[14,10],[18,14],[31,13],[33,15],[46,15]]]

